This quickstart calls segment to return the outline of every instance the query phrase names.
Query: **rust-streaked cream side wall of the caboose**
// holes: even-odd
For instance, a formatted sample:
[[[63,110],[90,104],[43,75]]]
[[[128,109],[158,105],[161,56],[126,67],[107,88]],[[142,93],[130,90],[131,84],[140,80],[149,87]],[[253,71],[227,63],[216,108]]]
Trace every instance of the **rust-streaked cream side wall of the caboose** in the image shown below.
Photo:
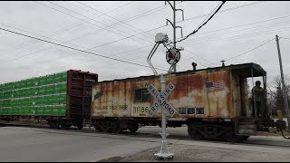
[[[172,82],[175,85],[175,90],[169,95],[168,101],[175,108],[177,113],[175,118],[188,117],[225,117],[231,118],[233,114],[232,102],[232,85],[231,72],[205,72],[197,74],[173,74],[167,78],[166,85]],[[206,82],[224,82],[224,91],[207,92]],[[113,82],[100,82],[93,86],[93,90],[102,91],[103,95],[100,99],[93,101],[93,114],[98,116],[102,112],[107,112],[106,116],[123,116],[123,117],[139,117],[148,116],[143,112],[136,112],[136,107],[148,107],[148,104],[136,104],[134,101],[136,89],[147,89],[153,84],[158,90],[160,87],[159,77],[139,77],[125,80],[118,80]],[[155,99],[150,96],[150,106]],[[124,114],[123,110],[119,109],[104,111],[103,107],[110,106],[127,106],[128,113]],[[104,110],[96,110],[96,108]],[[112,107],[114,108],[114,107]],[[179,108],[203,108],[205,114],[179,114]],[[135,111],[135,112],[134,112]],[[157,112],[153,117],[160,116]]]

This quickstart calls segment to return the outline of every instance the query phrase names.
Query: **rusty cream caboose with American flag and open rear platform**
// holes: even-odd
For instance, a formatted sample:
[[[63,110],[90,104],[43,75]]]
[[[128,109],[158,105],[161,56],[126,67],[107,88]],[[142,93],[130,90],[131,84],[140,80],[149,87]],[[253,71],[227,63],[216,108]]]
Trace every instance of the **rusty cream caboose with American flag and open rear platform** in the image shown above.
[[[259,130],[275,127],[262,101],[262,116],[252,117],[247,78],[260,77],[266,88],[266,72],[256,63],[222,66],[166,76],[166,84],[175,85],[168,101],[175,108],[167,116],[168,127],[188,126],[193,139],[247,139]],[[158,76],[140,76],[96,82],[92,86],[91,121],[98,131],[119,133],[139,126],[160,125],[160,110],[150,117],[148,111],[155,101],[148,87],[160,90]],[[285,123],[285,122],[284,122]],[[285,128],[285,127],[284,127]]]

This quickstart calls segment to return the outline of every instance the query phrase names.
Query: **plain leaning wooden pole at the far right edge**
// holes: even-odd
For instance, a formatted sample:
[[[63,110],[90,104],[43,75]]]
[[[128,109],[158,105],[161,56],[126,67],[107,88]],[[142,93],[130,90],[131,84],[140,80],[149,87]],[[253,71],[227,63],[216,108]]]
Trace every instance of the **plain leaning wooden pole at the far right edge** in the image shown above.
[[[287,118],[287,122],[288,122],[288,129],[290,129],[289,106],[288,106],[286,87],[285,87],[285,82],[284,82],[282,59],[281,59],[281,52],[280,52],[280,46],[279,46],[279,36],[277,34],[275,35],[275,41],[277,43],[277,50],[278,50],[278,55],[279,55],[281,82],[282,82],[282,87],[283,87],[283,97],[284,97],[284,104],[285,104],[285,113],[286,113],[286,118]]]

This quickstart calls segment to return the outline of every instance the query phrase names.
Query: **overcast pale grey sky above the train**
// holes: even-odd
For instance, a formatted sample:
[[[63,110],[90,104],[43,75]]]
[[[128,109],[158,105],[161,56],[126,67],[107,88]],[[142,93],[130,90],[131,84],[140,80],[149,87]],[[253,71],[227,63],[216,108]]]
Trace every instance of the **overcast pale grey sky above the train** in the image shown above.
[[[173,1],[169,1],[173,4]],[[176,1],[176,22],[183,36],[192,33],[221,1]],[[177,43],[177,72],[255,62],[267,72],[267,84],[280,75],[275,42],[278,34],[283,70],[290,74],[290,2],[227,1],[208,24]],[[61,43],[82,53],[0,30],[0,83],[20,81],[70,69],[95,72],[99,81],[152,75],[147,57],[155,35],[173,40],[173,10],[164,1],[1,1],[0,28]],[[181,30],[176,30],[177,41]],[[167,49],[160,45],[152,64],[169,70]],[[93,53],[93,54],[92,54]],[[108,58],[111,57],[119,62]],[[128,62],[137,63],[131,64]]]

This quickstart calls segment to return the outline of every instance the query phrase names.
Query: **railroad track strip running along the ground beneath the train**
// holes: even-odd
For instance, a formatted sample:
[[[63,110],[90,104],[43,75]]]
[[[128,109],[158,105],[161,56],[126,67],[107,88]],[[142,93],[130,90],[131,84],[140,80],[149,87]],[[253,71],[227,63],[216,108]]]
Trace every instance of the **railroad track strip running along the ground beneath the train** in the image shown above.
[[[0,122],[0,127],[5,127],[5,126],[14,126],[14,127],[26,127],[26,128],[33,128],[37,129],[36,131],[38,132],[43,132],[43,133],[55,133],[55,134],[68,134],[72,135],[73,133],[77,133],[78,136],[85,136],[85,137],[104,137],[108,138],[111,137],[112,139],[131,139],[131,140],[140,140],[139,138],[152,138],[152,139],[160,139],[160,135],[157,130],[160,131],[160,128],[150,128],[143,130],[140,128],[139,131],[136,133],[131,133],[131,131],[123,131],[121,134],[115,134],[115,133],[107,133],[107,132],[96,132],[94,128],[89,129],[89,128],[84,128],[84,129],[77,129],[77,128],[72,128],[72,129],[50,129],[48,125],[35,125],[35,124],[16,124],[16,123],[2,123]],[[42,130],[45,129],[45,130]],[[84,133],[84,134],[82,134]],[[87,135],[85,133],[96,133],[96,135]],[[117,138],[115,136],[127,136],[127,138]],[[128,138],[129,137],[129,138]],[[282,136],[281,136],[282,137]],[[237,142],[237,143],[231,143],[231,142],[224,142],[224,141],[218,141],[218,140],[204,140],[204,139],[190,139],[189,135],[184,132],[182,134],[170,134],[168,139],[173,139],[173,140],[192,140],[192,141],[198,141],[198,142],[208,142],[208,143],[223,143],[223,144],[235,144],[235,145],[248,145],[248,146],[263,146],[263,147],[277,147],[277,148],[290,148],[290,140],[283,139],[283,141],[279,141],[276,143],[275,141],[269,141],[267,140],[267,137],[265,139],[261,138],[258,140],[255,140],[255,136],[252,137],[253,139],[247,139],[242,142]],[[277,137],[278,138],[278,137]],[[151,140],[145,140],[145,141],[151,141]],[[156,140],[152,140],[156,141]]]

